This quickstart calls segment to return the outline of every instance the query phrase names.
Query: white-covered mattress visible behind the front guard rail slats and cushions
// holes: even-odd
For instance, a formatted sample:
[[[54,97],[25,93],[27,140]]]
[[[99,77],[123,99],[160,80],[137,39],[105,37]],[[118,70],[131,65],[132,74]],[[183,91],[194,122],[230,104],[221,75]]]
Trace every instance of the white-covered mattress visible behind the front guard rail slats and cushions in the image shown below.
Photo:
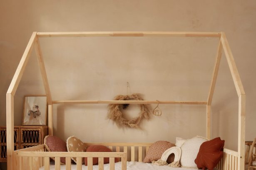
[[[114,164],[115,170],[121,170],[121,162]],[[40,170],[44,170],[41,167]],[[50,170],[55,170],[54,164],[50,165]],[[65,165],[60,165],[60,170],[66,170]],[[71,165],[71,170],[76,170],[76,165]],[[82,165],[82,170],[87,170],[87,166]],[[93,170],[98,170],[98,165],[93,165]],[[109,170],[109,163],[104,164],[104,170]],[[127,170],[195,170],[194,168],[171,168],[169,166],[158,166],[152,163],[142,163],[142,162],[127,162]]]

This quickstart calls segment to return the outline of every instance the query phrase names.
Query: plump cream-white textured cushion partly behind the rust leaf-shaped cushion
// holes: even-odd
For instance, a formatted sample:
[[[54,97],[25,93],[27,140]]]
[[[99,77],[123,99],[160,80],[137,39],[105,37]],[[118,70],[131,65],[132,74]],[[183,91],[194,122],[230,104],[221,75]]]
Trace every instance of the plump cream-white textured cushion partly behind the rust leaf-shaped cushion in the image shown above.
[[[186,140],[181,146],[181,159],[180,164],[182,167],[197,168],[195,159],[198,154],[199,148],[203,142],[207,141],[206,138],[196,136]]]

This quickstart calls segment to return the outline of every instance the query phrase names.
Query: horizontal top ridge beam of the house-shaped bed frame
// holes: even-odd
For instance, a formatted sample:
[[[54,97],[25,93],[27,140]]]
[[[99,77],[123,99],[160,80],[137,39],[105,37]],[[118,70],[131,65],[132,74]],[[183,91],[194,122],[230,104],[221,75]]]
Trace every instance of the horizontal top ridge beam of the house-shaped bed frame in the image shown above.
[[[220,32],[38,32],[38,37],[67,36],[187,36],[187,37],[220,37]]]

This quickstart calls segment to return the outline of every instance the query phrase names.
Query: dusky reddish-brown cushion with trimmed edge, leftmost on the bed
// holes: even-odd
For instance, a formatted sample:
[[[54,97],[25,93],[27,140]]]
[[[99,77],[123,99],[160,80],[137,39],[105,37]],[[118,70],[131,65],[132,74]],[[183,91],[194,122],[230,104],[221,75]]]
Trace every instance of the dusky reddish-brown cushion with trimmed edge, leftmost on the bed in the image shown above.
[[[67,144],[57,136],[45,136],[44,145],[48,152],[67,152]],[[54,160],[54,158],[52,158]],[[60,158],[60,163],[65,165],[66,158]]]

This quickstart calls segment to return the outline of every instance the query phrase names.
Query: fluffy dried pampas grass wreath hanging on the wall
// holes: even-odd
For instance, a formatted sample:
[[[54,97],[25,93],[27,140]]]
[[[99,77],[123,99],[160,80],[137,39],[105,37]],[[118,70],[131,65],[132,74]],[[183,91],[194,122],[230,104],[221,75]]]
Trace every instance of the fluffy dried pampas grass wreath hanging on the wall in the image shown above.
[[[114,97],[114,100],[143,100],[141,97],[141,94],[134,93],[132,95],[118,95]],[[108,119],[114,121],[118,127],[131,127],[131,128],[139,128],[139,123],[143,119],[149,120],[149,105],[148,104],[139,104],[140,105],[140,113],[138,117],[134,117],[131,120],[127,120],[123,117],[123,114],[121,112],[122,108],[126,109],[126,107],[123,107],[123,104],[109,104],[109,111],[108,111]]]

